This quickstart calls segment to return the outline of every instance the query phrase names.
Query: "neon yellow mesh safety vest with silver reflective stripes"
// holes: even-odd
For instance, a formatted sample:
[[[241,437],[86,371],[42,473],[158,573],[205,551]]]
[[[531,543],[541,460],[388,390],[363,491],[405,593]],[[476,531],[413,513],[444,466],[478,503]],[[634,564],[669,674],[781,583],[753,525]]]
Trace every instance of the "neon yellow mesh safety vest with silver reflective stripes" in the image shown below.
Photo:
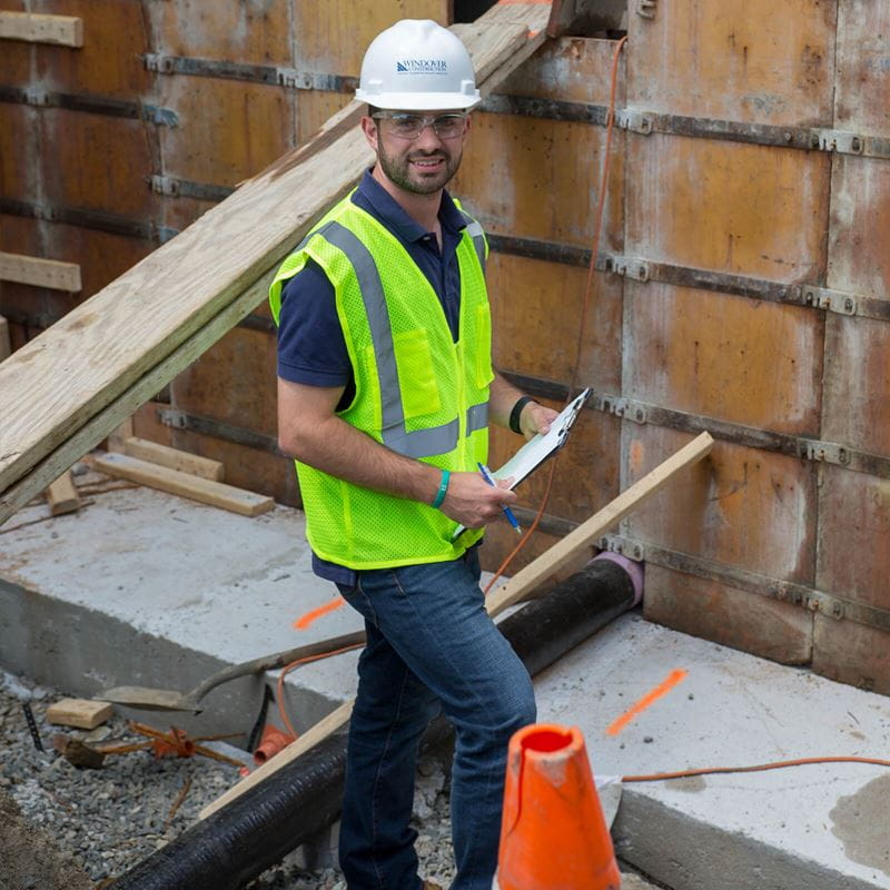
[[[487,458],[494,377],[487,244],[478,222],[464,217],[457,343],[435,290],[405,247],[349,196],[298,245],[269,288],[277,324],[284,283],[314,259],[334,286],[355,375],[355,397],[338,416],[398,454],[453,472],[475,472],[476,462]],[[442,562],[482,537],[475,530],[452,541],[456,523],[427,504],[299,461],[296,466],[306,535],[323,560],[350,568]]]

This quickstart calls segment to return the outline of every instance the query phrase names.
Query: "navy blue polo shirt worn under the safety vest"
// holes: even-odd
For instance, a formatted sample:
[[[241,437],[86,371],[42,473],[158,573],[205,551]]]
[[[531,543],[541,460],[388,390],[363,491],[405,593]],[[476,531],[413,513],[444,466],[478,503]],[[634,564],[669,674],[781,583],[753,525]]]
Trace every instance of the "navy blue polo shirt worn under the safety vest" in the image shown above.
[[[366,170],[353,204],[382,222],[408,251],[426,276],[445,310],[456,342],[461,309],[461,269],[457,245],[466,220],[447,191],[442,194],[438,220],[442,251],[436,236],[415,222]],[[348,405],[355,393],[353,366],[337,317],[334,286],[314,260],[295,275],[281,291],[278,322],[278,376],[307,386],[345,386],[340,405]],[[354,586],[352,568],[327,562],[313,554],[313,571],[337,584]]]

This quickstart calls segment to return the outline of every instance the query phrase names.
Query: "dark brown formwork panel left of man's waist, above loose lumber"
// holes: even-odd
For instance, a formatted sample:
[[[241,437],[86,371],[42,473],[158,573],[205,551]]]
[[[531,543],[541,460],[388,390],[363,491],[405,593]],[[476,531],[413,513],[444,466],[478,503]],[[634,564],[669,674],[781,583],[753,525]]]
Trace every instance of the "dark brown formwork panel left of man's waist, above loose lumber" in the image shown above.
[[[228,485],[268,495],[279,504],[303,506],[293,461],[186,429],[174,429],[170,439],[175,448],[219,461]]]

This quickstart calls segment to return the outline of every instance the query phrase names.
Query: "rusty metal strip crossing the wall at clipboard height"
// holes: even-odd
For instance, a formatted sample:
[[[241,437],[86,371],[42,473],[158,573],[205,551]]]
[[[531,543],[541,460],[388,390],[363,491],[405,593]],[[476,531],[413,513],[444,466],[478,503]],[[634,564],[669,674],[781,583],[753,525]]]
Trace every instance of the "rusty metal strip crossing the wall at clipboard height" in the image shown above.
[[[516,374],[503,368],[500,370],[514,386],[537,398],[565,402],[568,397],[568,387],[557,380]],[[803,461],[834,464],[847,469],[853,469],[857,473],[867,473],[879,478],[890,478],[890,457],[858,451],[838,442],[823,442],[822,439],[793,436],[788,433],[758,429],[753,426],[744,426],[701,414],[665,408],[650,402],[625,398],[612,393],[593,392],[586,407],[591,411],[611,414],[636,424],[652,424],[694,435],[708,432],[714,438],[731,442],[734,445],[784,454]]]

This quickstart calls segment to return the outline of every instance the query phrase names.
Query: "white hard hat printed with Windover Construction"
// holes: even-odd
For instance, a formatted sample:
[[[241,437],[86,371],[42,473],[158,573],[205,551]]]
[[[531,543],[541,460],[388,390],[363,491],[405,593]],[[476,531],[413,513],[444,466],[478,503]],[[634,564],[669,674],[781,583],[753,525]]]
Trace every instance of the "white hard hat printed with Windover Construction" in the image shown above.
[[[409,111],[468,109],[482,101],[466,47],[429,19],[403,19],[374,38],[355,98]]]

